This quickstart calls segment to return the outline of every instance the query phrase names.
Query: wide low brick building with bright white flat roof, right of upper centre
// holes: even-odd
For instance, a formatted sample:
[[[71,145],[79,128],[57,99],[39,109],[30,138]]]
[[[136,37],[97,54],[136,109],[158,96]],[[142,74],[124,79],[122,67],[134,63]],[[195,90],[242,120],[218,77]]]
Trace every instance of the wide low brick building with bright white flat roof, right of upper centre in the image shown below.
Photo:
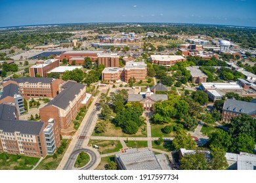
[[[165,67],[171,67],[171,65],[184,61],[185,58],[182,56],[169,56],[169,55],[152,55],[150,56],[152,64],[163,65]]]

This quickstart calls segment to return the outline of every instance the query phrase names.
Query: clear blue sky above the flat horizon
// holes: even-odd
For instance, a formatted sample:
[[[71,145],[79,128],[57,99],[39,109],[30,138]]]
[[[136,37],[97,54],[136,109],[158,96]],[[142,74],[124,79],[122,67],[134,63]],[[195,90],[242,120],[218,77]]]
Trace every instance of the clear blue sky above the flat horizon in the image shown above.
[[[0,27],[170,22],[256,27],[255,0],[0,0]]]

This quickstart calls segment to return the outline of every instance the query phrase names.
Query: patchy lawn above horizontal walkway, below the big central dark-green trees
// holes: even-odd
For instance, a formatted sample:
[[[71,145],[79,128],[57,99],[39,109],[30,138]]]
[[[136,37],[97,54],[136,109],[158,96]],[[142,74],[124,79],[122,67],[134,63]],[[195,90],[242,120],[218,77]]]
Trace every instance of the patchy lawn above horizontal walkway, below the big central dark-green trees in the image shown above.
[[[137,133],[133,135],[129,135],[126,133],[123,133],[121,127],[116,127],[116,125],[112,123],[108,123],[106,127],[107,131],[105,133],[95,133],[93,131],[93,136],[103,136],[103,137],[146,137],[146,128],[144,131],[144,125],[139,127],[139,130]]]

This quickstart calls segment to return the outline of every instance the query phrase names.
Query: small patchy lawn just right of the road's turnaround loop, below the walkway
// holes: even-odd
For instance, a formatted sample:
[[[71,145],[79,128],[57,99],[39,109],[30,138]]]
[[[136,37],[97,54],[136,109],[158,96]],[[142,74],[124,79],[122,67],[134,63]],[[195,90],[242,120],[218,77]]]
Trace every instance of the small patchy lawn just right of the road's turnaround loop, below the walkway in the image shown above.
[[[119,152],[119,150],[123,148],[120,141],[90,140],[89,144],[91,144],[91,146],[94,146],[95,144],[99,146],[100,154]]]

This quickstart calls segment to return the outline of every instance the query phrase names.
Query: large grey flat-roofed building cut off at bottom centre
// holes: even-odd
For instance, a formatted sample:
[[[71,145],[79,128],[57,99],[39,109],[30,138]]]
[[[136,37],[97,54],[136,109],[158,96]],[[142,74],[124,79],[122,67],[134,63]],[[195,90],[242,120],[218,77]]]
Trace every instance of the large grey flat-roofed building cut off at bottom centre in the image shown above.
[[[171,170],[164,154],[154,154],[148,148],[131,148],[116,154],[115,161],[119,170]]]

